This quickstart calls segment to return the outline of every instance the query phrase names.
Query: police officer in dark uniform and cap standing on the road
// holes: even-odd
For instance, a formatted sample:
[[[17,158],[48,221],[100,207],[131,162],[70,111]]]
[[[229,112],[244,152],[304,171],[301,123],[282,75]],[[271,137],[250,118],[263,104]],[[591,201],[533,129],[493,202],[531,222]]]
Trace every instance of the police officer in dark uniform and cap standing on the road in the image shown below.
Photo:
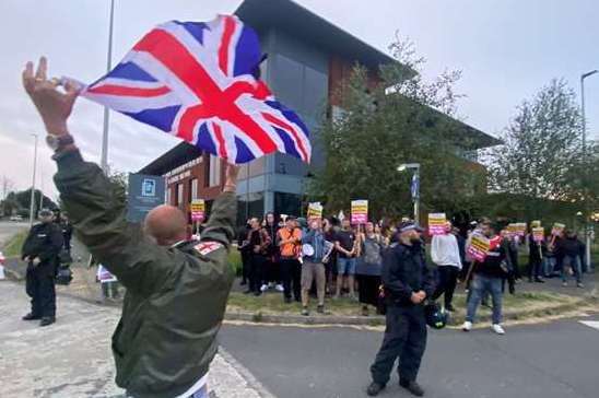
[[[435,290],[434,274],[426,267],[419,226],[402,222],[398,242],[385,251],[381,281],[385,288],[387,314],[385,338],[375,362],[367,394],[374,397],[389,382],[399,358],[399,384],[421,397],[424,390],[416,383],[420,362],[426,347],[424,300]]]

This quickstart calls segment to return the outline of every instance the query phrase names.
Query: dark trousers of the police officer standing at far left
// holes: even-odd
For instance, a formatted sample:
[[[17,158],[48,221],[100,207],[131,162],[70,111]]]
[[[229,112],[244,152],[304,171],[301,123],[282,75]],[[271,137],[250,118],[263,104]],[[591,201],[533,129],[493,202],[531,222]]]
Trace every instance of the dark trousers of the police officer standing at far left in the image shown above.
[[[36,317],[56,316],[55,270],[51,265],[27,267],[25,291],[32,297],[32,314]]]

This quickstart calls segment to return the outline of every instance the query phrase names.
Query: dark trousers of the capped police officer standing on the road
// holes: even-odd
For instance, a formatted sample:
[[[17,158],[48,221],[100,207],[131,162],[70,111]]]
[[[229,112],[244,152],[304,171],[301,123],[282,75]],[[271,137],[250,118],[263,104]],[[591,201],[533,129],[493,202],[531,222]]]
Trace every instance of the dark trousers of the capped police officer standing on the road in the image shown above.
[[[400,379],[415,381],[426,349],[424,307],[422,305],[388,306],[386,321],[383,346],[371,366],[373,382],[386,385],[398,358]]]

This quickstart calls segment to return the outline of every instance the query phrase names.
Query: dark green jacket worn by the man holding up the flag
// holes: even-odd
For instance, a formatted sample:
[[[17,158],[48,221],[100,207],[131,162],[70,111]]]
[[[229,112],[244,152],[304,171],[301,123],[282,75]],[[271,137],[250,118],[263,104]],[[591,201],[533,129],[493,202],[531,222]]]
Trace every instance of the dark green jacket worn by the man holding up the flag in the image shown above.
[[[161,247],[125,219],[99,167],[79,152],[57,160],[55,183],[75,235],[127,288],[113,336],[118,386],[134,397],[176,397],[216,354],[233,272],[235,194],[215,200],[201,243]]]

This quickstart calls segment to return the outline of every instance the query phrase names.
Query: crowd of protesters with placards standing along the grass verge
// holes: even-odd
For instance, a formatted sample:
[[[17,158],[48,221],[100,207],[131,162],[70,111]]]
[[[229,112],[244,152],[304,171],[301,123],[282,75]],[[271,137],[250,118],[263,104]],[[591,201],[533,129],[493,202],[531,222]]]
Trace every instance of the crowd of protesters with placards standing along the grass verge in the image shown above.
[[[567,285],[568,278],[574,276],[577,286],[583,288],[585,247],[574,231],[566,230],[562,236],[538,242],[531,231],[524,236],[508,233],[505,225],[485,218],[461,230],[448,222],[446,229],[445,235],[434,235],[430,239],[430,255],[436,266],[436,289],[431,298],[436,301],[443,295],[444,309],[454,312],[454,292],[463,283],[466,331],[471,329],[482,303],[492,307],[493,329],[503,333],[503,293],[507,285],[508,292],[514,294],[522,277],[530,283],[560,277]],[[307,221],[287,216],[277,220],[273,213],[268,213],[263,220],[250,219],[238,234],[242,285],[247,286],[246,294],[257,296],[269,290],[282,292],[285,303],[302,303],[303,315],[309,315],[310,296],[316,296],[318,313],[325,313],[325,297],[333,301],[348,297],[359,302],[364,316],[372,307],[383,313],[383,255],[397,241],[396,233],[390,224],[352,225],[349,219]],[[468,255],[470,237],[474,233],[484,235],[490,242],[483,261],[474,261]],[[421,236],[424,243],[427,235],[422,231]],[[527,267],[519,258],[524,247],[528,251]]]

